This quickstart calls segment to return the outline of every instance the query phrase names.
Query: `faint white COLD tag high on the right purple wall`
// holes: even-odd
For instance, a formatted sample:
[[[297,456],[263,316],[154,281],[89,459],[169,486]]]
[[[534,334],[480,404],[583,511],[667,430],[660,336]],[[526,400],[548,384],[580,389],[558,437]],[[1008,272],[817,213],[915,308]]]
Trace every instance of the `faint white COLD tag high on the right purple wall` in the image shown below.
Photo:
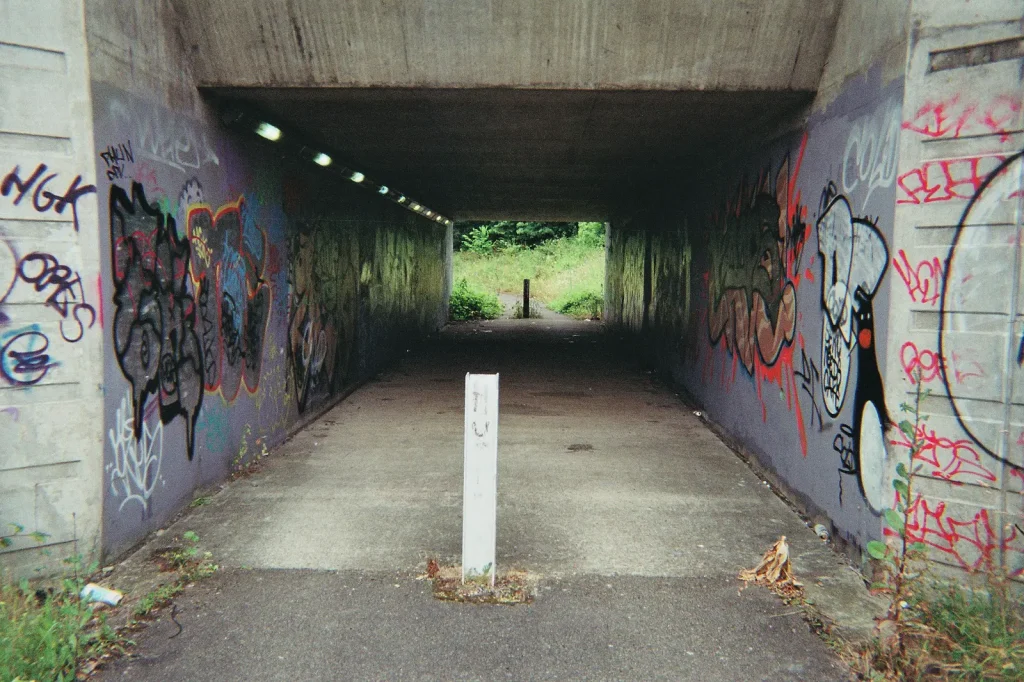
[[[843,191],[851,195],[857,187],[865,186],[862,206],[867,206],[872,191],[890,187],[896,181],[900,126],[899,104],[863,116],[850,126],[843,155]]]

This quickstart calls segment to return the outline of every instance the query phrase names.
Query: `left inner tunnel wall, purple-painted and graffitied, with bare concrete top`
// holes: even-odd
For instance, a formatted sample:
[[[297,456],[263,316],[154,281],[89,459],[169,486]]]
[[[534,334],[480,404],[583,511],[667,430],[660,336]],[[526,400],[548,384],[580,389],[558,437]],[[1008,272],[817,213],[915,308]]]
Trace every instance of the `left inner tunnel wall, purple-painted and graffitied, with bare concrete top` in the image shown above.
[[[88,11],[117,554],[443,324],[447,231],[216,125],[167,3]]]

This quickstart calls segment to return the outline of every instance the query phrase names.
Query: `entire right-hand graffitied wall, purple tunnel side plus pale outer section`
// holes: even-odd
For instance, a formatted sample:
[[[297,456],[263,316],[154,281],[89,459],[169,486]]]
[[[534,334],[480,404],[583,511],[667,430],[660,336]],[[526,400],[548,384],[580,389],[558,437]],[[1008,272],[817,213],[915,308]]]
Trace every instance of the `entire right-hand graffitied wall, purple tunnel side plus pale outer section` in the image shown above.
[[[608,318],[841,539],[886,534],[916,439],[910,540],[1024,577],[1019,7],[965,16],[915,1],[908,61],[826,74],[806,123],[618,224]]]

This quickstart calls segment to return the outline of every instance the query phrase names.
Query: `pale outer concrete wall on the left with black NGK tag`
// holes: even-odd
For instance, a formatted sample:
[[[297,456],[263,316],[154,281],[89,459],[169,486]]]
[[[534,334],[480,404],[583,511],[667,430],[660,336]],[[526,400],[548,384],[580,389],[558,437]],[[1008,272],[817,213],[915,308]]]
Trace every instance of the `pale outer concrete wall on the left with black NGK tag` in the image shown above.
[[[0,567],[99,545],[102,302],[82,3],[0,0]]]

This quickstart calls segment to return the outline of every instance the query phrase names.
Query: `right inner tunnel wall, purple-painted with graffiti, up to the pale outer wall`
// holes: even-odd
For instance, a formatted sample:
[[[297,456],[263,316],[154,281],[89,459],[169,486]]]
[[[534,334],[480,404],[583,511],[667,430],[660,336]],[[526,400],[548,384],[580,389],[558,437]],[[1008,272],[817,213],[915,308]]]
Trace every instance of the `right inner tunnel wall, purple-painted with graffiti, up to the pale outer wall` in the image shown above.
[[[866,4],[883,18],[864,25]],[[615,221],[609,251],[609,321],[857,546],[881,537],[885,426],[899,414],[884,372],[901,5],[846,3],[808,110],[737,140],[703,181],[673,187],[678,203]]]

